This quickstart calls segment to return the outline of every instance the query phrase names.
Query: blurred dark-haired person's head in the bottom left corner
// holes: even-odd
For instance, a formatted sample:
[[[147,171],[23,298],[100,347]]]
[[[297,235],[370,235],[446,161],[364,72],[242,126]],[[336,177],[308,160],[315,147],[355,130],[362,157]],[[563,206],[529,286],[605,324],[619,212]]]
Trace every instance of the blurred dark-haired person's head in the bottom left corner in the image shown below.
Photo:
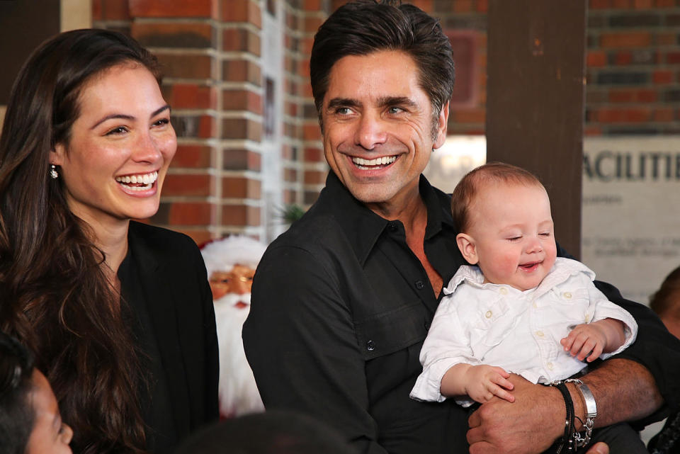
[[[0,453],[72,454],[72,436],[33,356],[0,331]]]

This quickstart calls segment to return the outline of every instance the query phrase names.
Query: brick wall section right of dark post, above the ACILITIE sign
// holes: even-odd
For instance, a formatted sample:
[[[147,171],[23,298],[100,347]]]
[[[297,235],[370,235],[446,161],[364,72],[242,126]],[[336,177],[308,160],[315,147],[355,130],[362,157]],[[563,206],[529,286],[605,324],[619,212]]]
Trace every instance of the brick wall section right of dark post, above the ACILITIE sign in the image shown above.
[[[680,132],[680,2],[590,0],[586,134]]]

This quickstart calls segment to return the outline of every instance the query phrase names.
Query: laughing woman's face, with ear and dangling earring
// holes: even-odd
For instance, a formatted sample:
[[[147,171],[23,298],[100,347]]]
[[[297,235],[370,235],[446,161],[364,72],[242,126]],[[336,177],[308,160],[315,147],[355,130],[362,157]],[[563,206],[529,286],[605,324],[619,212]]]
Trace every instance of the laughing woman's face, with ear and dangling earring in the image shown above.
[[[154,215],[177,149],[154,76],[132,62],[97,74],[80,93],[79,114],[68,143],[50,153],[71,211],[93,226]]]

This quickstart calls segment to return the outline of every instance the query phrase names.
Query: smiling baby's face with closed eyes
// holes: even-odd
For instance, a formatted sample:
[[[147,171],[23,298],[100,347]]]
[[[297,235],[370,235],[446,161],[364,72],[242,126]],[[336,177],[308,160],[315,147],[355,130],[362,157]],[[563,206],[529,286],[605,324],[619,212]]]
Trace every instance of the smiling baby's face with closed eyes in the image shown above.
[[[485,281],[518,290],[538,286],[557,255],[548,193],[541,186],[497,184],[477,193],[468,234]]]

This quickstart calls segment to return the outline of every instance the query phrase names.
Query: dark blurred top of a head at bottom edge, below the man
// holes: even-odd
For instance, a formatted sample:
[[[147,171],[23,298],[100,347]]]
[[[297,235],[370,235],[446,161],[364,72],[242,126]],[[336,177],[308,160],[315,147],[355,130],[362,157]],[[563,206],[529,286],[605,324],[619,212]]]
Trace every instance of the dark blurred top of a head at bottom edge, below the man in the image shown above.
[[[174,454],[356,454],[308,416],[270,411],[226,419],[194,433]]]

